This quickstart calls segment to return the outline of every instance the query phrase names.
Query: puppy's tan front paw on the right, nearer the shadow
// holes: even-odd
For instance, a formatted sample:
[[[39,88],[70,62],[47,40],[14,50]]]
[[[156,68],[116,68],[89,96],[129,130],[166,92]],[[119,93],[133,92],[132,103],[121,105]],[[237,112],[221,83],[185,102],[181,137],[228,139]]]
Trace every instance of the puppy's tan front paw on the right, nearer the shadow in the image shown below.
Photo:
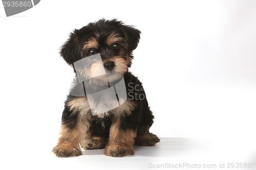
[[[122,144],[112,144],[105,147],[104,154],[106,156],[120,157],[125,155],[134,155],[134,150],[133,146],[127,147]]]

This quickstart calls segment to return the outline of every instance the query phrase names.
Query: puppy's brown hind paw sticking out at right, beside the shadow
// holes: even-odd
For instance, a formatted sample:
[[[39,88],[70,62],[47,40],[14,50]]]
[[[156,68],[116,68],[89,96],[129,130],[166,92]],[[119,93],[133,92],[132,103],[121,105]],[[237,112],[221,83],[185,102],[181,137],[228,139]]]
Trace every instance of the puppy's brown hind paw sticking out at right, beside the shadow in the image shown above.
[[[137,137],[135,138],[135,145],[138,146],[152,146],[156,143],[158,143],[160,139],[157,137],[157,135],[146,132],[143,134],[137,134]]]

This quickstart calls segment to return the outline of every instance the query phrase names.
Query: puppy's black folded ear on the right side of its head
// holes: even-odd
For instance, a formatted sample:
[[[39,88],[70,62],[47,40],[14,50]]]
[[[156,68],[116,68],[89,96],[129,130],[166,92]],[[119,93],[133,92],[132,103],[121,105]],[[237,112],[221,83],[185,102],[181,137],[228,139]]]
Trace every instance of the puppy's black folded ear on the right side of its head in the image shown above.
[[[132,53],[136,49],[140,40],[140,31],[133,28],[132,26],[121,26],[124,32],[125,38],[128,41],[128,51]]]

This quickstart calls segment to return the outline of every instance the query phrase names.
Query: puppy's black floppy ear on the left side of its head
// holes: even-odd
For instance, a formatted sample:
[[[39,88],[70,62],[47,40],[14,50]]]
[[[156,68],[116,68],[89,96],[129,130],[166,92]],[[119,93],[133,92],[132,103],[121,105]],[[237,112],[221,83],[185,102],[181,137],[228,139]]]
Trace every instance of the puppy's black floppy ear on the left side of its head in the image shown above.
[[[72,64],[81,59],[79,39],[76,34],[78,30],[70,33],[69,39],[61,46],[60,55],[68,63]]]

